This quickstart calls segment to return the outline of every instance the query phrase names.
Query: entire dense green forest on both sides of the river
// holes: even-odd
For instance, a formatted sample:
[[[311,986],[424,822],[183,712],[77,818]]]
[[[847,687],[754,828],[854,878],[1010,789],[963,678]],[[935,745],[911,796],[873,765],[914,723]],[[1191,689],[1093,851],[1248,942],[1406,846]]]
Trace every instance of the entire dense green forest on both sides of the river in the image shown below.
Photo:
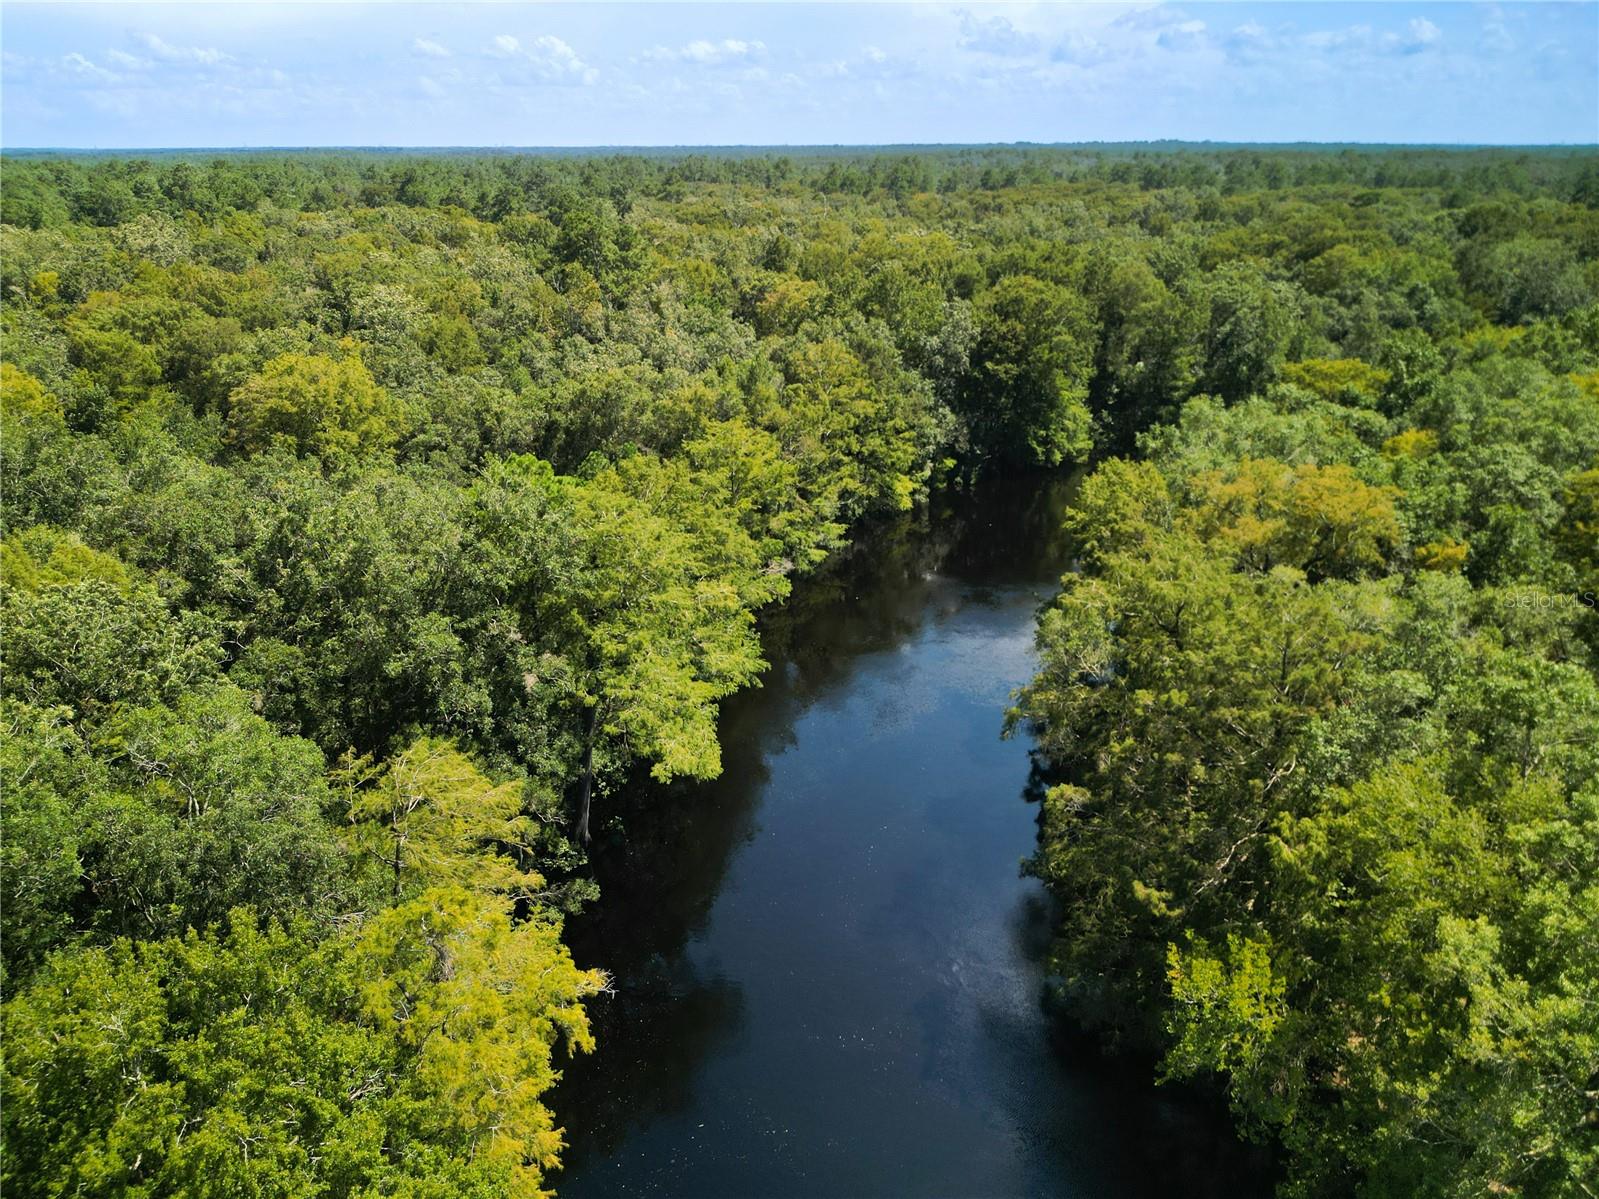
[[[10,157],[5,1188],[536,1196],[609,803],[1092,464],[1071,1018],[1294,1196],[1599,1191],[1599,158]],[[660,791],[662,803],[672,793]]]

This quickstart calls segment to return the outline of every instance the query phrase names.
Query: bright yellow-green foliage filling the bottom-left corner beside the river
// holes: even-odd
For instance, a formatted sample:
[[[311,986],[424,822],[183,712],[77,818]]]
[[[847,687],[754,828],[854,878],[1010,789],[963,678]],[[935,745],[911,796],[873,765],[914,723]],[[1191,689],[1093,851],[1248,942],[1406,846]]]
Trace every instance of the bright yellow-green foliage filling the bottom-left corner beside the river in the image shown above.
[[[238,908],[58,954],[5,1009],[6,1189],[547,1194],[540,1095],[603,985],[558,930],[435,889],[310,937]]]

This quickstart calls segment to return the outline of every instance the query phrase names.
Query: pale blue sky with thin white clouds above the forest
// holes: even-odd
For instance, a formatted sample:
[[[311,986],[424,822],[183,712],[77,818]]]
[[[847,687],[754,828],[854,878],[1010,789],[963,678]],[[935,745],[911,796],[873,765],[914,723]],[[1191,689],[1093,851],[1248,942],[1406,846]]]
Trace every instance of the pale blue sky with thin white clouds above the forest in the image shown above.
[[[1599,141],[1596,3],[0,6],[0,144]]]

